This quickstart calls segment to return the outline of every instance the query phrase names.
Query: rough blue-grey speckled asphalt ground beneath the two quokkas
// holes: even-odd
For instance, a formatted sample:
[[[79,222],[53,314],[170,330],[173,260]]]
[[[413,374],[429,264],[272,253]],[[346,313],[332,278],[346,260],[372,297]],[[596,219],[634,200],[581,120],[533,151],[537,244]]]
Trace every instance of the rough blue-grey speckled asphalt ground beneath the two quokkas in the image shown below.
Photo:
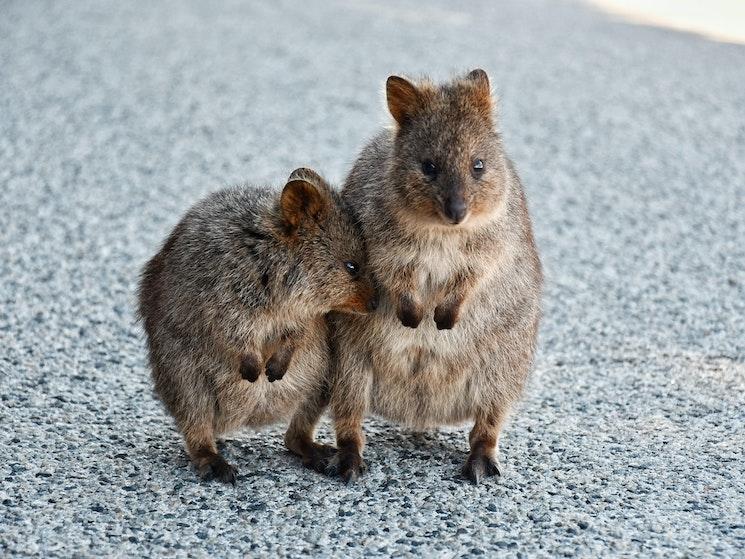
[[[742,556],[745,47],[583,4],[0,2],[0,554]],[[154,399],[140,267],[222,185],[335,181],[394,72],[484,67],[547,275],[505,475],[467,427],[282,426],[197,481]],[[328,425],[321,436],[330,438]]]

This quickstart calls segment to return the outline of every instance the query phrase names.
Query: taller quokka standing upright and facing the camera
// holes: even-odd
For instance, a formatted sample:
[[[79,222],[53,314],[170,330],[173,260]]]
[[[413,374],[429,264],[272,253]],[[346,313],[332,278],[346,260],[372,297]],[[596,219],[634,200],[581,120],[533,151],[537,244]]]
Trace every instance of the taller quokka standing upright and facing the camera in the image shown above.
[[[542,274],[520,180],[483,70],[386,85],[395,129],[362,151],[342,196],[361,224],[378,311],[333,318],[336,470],[365,469],[371,412],[425,428],[474,421],[463,474],[499,474],[500,430],[536,346]]]

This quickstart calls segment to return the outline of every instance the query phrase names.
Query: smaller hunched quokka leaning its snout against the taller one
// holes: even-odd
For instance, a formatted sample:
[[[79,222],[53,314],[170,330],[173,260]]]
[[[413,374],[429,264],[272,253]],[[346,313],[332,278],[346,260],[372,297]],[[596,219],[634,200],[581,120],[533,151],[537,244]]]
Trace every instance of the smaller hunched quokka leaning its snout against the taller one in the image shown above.
[[[312,438],[328,380],[324,314],[375,308],[365,260],[339,194],[297,169],[281,196],[209,195],[148,262],[139,311],[155,390],[202,477],[235,483],[216,436],[293,413],[293,452],[314,463],[333,450]]]

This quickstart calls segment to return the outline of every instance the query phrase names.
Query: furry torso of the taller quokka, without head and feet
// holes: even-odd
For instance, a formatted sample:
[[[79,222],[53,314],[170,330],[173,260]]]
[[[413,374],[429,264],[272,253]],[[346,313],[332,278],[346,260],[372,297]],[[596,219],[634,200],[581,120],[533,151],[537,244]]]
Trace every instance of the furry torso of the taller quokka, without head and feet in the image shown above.
[[[389,140],[375,140],[345,186],[382,298],[372,315],[337,322],[342,374],[370,374],[369,410],[415,427],[508,408],[532,361],[541,284],[519,179],[507,165],[493,211],[448,229],[423,223],[395,198],[390,157]],[[421,306],[416,328],[402,324],[409,293]],[[462,301],[457,320],[440,330],[435,309],[453,297]]]

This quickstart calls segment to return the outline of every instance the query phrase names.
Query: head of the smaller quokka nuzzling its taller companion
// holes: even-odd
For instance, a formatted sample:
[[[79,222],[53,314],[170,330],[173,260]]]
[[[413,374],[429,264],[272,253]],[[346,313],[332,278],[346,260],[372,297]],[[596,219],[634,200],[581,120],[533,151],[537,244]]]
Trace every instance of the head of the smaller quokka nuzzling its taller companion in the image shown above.
[[[318,173],[300,168],[287,179],[280,207],[307,278],[308,303],[323,312],[374,311],[378,294],[365,245],[339,194]]]

